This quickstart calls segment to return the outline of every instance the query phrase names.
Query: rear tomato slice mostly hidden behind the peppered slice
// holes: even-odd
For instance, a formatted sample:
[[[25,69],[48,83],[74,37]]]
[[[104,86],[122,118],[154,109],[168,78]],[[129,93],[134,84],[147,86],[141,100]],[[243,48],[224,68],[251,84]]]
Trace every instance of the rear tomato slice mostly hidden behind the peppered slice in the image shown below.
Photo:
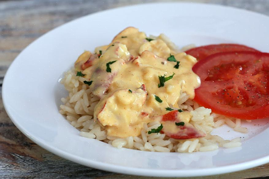
[[[194,56],[198,61],[202,60],[209,55],[213,55],[219,52],[228,52],[228,51],[255,51],[258,50],[240,44],[214,44],[206,45],[201,47],[192,48],[186,51],[186,54]]]

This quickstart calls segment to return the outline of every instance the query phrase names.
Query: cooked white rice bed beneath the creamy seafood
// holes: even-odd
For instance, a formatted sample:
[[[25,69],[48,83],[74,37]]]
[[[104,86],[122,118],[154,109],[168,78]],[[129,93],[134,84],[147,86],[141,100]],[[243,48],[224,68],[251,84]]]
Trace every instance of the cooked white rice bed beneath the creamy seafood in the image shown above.
[[[192,115],[190,124],[205,132],[206,137],[176,140],[165,136],[165,134],[148,134],[148,131],[160,125],[157,121],[145,124],[141,129],[141,135],[138,137],[130,136],[121,139],[107,136],[104,127],[93,119],[94,106],[99,99],[92,95],[89,87],[83,83],[84,80],[86,79],[76,76],[74,70],[69,70],[65,73],[61,83],[63,83],[69,95],[66,98],[61,98],[64,105],[60,105],[59,112],[65,115],[70,124],[80,131],[81,136],[101,140],[111,144],[113,147],[157,152],[210,151],[219,147],[241,146],[240,138],[230,141],[224,140],[217,135],[210,135],[213,128],[226,124],[235,131],[248,132],[247,128],[241,127],[240,119],[227,118],[211,113],[211,109],[200,107],[196,102],[188,100],[189,96],[186,93],[182,93],[178,102],[179,108],[190,111]]]

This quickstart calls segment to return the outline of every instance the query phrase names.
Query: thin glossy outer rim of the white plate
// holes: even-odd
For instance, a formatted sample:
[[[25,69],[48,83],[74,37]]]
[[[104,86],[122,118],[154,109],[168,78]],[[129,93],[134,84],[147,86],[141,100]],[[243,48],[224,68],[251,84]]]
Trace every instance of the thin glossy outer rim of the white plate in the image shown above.
[[[195,177],[195,176],[209,176],[209,175],[216,175],[216,174],[223,174],[223,173],[240,171],[240,170],[249,169],[249,168],[252,168],[255,166],[263,165],[263,164],[269,162],[269,155],[267,155],[265,157],[260,157],[260,158],[257,158],[255,160],[251,160],[251,161],[247,161],[247,162],[243,162],[243,163],[237,163],[237,164],[232,164],[232,165],[222,166],[222,167],[212,167],[212,168],[208,168],[208,169],[195,169],[195,170],[190,170],[190,169],[187,169],[187,170],[186,169],[185,170],[164,169],[164,170],[162,170],[162,169],[143,169],[143,168],[132,168],[132,167],[127,167],[127,166],[118,166],[118,165],[108,164],[105,162],[96,162],[96,161],[90,160],[90,159],[86,160],[85,158],[81,158],[81,157],[76,156],[74,154],[71,154],[69,152],[65,152],[63,150],[60,150],[56,147],[52,147],[50,145],[47,145],[45,142],[42,143],[42,140],[40,142],[40,140],[38,140],[36,137],[29,135],[28,130],[24,129],[20,124],[18,124],[16,122],[15,119],[13,119],[10,111],[7,110],[7,98],[8,97],[5,96],[5,94],[6,94],[5,91],[8,89],[5,88],[5,83],[7,81],[6,76],[10,76],[11,67],[17,62],[17,60],[20,58],[21,54],[24,51],[26,51],[27,49],[29,49],[37,40],[40,40],[40,38],[42,38],[43,36],[47,35],[50,32],[53,32],[54,30],[57,30],[58,28],[61,28],[62,26],[73,23],[74,21],[79,21],[85,17],[95,16],[99,13],[125,9],[125,8],[129,8],[129,7],[134,7],[134,6],[139,7],[139,6],[162,5],[162,4],[165,4],[165,5],[167,5],[167,4],[186,4],[186,5],[190,5],[190,6],[191,5],[212,6],[212,7],[217,7],[217,8],[239,10],[241,12],[250,13],[251,15],[256,14],[256,15],[262,15],[263,17],[269,18],[269,16],[262,14],[262,13],[258,13],[258,12],[254,12],[254,11],[250,11],[250,10],[245,10],[245,9],[240,9],[240,8],[236,8],[236,7],[232,7],[232,6],[223,6],[223,5],[210,4],[210,3],[207,4],[207,3],[202,3],[202,2],[195,2],[195,3],[191,3],[191,2],[156,2],[156,3],[144,3],[144,4],[136,4],[136,5],[131,5],[131,6],[116,7],[116,8],[112,8],[109,10],[101,10],[101,11],[98,11],[95,13],[90,13],[90,14],[87,14],[85,16],[73,19],[69,22],[66,22],[66,23],[44,33],[40,37],[38,37],[36,40],[31,42],[26,48],[24,48],[20,52],[20,54],[17,55],[17,57],[10,64],[10,67],[6,71],[6,74],[4,76],[4,80],[2,83],[2,101],[3,101],[4,108],[5,108],[8,116],[10,117],[10,120],[13,122],[13,124],[26,137],[28,137],[34,143],[36,143],[40,147],[44,148],[45,150],[48,150],[49,152],[51,152],[55,155],[58,155],[62,158],[65,158],[65,159],[70,160],[70,161],[75,162],[75,163],[79,163],[79,164],[84,165],[84,166],[92,167],[95,169],[101,169],[104,171],[114,172],[114,173],[123,173],[123,174],[129,174],[129,175],[139,175],[139,176],[154,176],[154,177]],[[144,151],[142,151],[142,152],[144,152]],[[116,169],[116,171],[115,171],[115,169]]]

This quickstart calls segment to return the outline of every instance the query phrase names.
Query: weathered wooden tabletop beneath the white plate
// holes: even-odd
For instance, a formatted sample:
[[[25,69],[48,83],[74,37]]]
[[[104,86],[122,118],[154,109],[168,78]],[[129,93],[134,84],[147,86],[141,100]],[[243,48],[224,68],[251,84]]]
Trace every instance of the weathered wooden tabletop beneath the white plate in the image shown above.
[[[144,2],[161,2],[147,0]],[[186,1],[182,1],[186,2]],[[188,1],[187,1],[188,2]],[[193,2],[193,1],[192,1]],[[202,0],[269,15],[269,0]],[[0,178],[148,178],[85,167],[60,158],[29,140],[11,122],[2,103],[4,74],[15,57],[33,40],[77,17],[119,6],[142,3],[136,0],[0,0]],[[211,177],[259,178],[269,176],[269,164]]]

